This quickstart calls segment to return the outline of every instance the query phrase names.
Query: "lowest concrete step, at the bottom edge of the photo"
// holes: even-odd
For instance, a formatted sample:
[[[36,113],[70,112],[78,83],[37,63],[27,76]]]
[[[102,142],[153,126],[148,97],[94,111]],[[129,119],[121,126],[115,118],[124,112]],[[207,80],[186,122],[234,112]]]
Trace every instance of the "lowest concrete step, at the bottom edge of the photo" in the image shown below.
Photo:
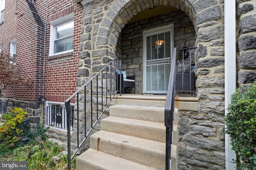
[[[157,170],[111,154],[88,149],[76,157],[77,170]]]

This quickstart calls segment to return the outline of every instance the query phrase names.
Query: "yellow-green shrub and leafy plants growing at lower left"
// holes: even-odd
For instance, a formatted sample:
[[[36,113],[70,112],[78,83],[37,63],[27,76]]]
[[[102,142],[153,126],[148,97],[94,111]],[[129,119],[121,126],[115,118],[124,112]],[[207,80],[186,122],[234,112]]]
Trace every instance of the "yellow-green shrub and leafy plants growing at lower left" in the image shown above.
[[[0,160],[28,161],[29,170],[66,170],[67,156],[61,153],[64,148],[47,140],[49,127],[38,122],[31,129],[27,114],[19,107],[2,115],[5,123],[0,125]],[[42,137],[42,141],[36,141],[36,137]],[[74,169],[75,158],[71,163]]]

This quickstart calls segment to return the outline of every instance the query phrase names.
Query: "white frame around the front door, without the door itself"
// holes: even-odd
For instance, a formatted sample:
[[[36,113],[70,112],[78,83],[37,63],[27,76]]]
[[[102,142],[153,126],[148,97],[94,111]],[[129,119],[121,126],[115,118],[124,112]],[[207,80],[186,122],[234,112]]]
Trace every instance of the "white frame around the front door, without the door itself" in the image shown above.
[[[170,52],[172,57],[173,48],[174,48],[174,24],[166,25],[163,27],[157,27],[153,29],[148,29],[143,31],[143,93],[146,92],[146,37],[150,34],[162,33],[165,31],[170,31]],[[154,93],[154,91],[152,91]],[[157,92],[156,92],[157,93]],[[161,93],[161,92],[160,92]],[[162,92],[163,93],[163,92]]]

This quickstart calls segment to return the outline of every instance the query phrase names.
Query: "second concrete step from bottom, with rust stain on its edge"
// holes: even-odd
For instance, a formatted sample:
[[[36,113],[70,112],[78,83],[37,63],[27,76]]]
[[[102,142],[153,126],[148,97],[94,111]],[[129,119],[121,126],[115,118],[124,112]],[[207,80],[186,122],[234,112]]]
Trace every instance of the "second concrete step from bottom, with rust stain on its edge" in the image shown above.
[[[90,137],[90,148],[153,168],[165,167],[165,143],[99,131]]]

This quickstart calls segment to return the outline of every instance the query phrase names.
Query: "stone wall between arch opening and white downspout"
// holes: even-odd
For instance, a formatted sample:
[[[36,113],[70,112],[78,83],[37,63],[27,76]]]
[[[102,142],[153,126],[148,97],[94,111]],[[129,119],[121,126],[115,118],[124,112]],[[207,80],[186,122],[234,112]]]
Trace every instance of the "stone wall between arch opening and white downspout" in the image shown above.
[[[223,2],[198,0],[192,3],[197,20],[195,63],[199,110],[180,110],[181,170],[225,169]]]

